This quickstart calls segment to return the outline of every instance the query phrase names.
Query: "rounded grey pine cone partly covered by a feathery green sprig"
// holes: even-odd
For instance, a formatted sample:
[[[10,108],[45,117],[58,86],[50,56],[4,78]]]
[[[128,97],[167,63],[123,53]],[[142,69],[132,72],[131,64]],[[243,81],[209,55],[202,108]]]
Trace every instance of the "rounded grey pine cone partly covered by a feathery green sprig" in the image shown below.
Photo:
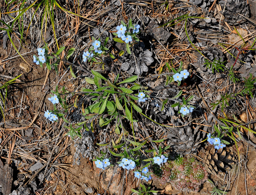
[[[209,60],[211,61],[219,61],[220,63],[224,61],[224,54],[223,52],[216,48],[216,47],[209,47],[207,48],[206,50],[202,51],[202,54],[208,58]],[[195,66],[198,66],[200,67],[200,69],[203,71],[203,72],[208,72],[208,73],[212,73],[212,67],[209,69],[206,67],[206,64],[205,63],[205,58],[204,56],[202,56],[201,54],[198,54],[198,59],[197,59],[197,63],[195,63]]]

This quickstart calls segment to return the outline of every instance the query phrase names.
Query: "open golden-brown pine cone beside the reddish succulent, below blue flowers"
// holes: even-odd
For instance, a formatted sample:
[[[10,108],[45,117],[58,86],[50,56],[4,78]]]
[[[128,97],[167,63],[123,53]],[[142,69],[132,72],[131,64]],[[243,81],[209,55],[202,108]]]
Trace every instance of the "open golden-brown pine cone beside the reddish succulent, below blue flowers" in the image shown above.
[[[235,164],[236,155],[233,152],[226,150],[218,150],[210,145],[206,148],[206,151],[202,151],[198,154],[205,164],[205,168],[209,173],[213,175],[225,175],[225,172],[232,169],[232,165]]]

